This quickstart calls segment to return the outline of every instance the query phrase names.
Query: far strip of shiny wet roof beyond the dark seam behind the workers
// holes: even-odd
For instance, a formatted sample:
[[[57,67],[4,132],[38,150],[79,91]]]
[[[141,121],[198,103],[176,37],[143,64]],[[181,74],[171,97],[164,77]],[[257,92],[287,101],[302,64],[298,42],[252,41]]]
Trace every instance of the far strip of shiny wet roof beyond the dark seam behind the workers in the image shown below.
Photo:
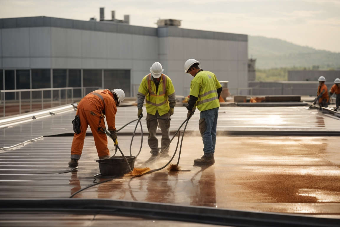
[[[143,113],[146,115],[144,108]],[[171,116],[170,130],[176,131],[186,118],[185,107],[176,107]],[[75,111],[52,115],[29,123],[0,129],[0,147],[12,146],[39,136],[73,133],[71,121]],[[116,128],[137,118],[136,107],[120,107],[116,116]],[[189,120],[187,130],[198,132],[199,111]],[[142,120],[144,132],[146,121]],[[133,132],[135,123],[121,132]],[[335,120],[308,107],[220,107],[218,131],[339,131],[340,120]],[[138,129],[139,130],[139,129]],[[91,132],[90,128],[87,130]],[[137,131],[138,132],[138,131]]]

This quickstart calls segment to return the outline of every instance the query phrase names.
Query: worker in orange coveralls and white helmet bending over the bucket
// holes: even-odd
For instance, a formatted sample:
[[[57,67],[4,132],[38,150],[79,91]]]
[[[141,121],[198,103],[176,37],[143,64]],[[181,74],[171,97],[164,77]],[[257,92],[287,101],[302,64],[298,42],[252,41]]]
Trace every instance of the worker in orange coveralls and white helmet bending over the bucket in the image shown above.
[[[84,139],[88,125],[90,125],[99,159],[110,157],[110,151],[107,148],[107,137],[105,134],[105,121],[108,124],[108,130],[115,146],[118,144],[117,133],[115,128],[115,117],[117,106],[125,98],[124,91],[121,89],[96,90],[87,94],[78,104],[77,115],[80,119],[80,133],[74,133],[71,147],[71,161],[69,166],[78,166],[78,160],[82,154]]]

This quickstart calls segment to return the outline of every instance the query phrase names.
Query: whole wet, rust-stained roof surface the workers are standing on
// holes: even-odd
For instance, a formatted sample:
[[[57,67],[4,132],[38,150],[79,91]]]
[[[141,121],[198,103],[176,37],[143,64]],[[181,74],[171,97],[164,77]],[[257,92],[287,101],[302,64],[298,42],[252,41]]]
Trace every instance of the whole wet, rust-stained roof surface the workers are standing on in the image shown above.
[[[136,118],[136,107],[119,108],[116,126]],[[145,111],[146,112],[146,111]],[[175,108],[171,130],[186,117],[184,107]],[[54,115],[13,128],[0,129],[7,146],[54,130],[72,132],[75,112]],[[198,131],[199,114],[189,120],[188,130]],[[146,131],[145,120],[142,121]],[[135,123],[124,129],[133,131]],[[222,107],[218,130],[319,130],[339,131],[340,120],[306,107]],[[123,130],[122,130],[123,131]],[[139,129],[138,129],[139,131]],[[53,134],[53,133],[51,133]],[[17,135],[20,135],[19,137]],[[15,137],[13,139],[13,137]],[[13,140],[11,140],[13,139]],[[128,155],[131,136],[119,136]],[[174,141],[175,142],[175,141]],[[175,143],[170,153],[175,150]],[[15,150],[0,151],[1,198],[68,198],[92,184],[100,173],[94,140],[86,136],[77,171],[70,169],[72,136],[44,137]],[[133,154],[140,136],[133,142]],[[171,173],[167,169],[141,177],[119,177],[88,188],[75,198],[110,198],[208,206],[246,211],[340,215],[339,137],[332,136],[218,136],[215,164],[193,166],[203,155],[200,136],[185,136],[180,166],[190,172]],[[109,140],[109,149],[114,150]],[[159,168],[170,158],[145,163],[150,157],[147,138],[135,167]],[[113,154],[113,153],[112,153]],[[177,156],[173,160],[176,163]],[[106,180],[99,178],[97,181]]]

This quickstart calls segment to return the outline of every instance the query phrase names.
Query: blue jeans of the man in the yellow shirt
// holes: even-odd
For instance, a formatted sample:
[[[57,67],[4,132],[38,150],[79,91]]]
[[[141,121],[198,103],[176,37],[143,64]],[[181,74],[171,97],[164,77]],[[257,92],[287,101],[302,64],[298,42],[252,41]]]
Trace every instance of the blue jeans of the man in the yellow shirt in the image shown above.
[[[201,112],[199,128],[203,140],[204,153],[214,153],[216,144],[218,108]]]

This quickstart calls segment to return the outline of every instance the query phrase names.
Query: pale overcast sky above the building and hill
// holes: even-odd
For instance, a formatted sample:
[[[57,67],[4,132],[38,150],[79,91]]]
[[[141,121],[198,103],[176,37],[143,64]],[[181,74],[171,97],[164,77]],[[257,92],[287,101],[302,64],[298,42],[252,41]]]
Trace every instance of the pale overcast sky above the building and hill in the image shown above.
[[[260,35],[340,52],[340,0],[0,0],[0,18],[50,16],[78,20],[130,15],[130,24],[156,27],[158,18],[182,28]]]

